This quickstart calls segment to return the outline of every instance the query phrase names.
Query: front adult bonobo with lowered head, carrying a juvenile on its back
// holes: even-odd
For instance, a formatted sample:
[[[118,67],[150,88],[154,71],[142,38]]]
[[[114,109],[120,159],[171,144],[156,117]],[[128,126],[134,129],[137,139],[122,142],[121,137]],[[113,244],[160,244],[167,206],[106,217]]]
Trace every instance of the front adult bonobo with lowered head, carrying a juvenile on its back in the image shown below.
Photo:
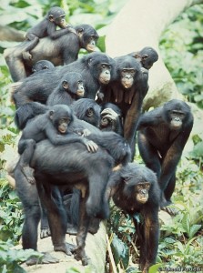
[[[81,124],[86,127],[85,121],[81,121]],[[76,236],[77,247],[74,249],[75,258],[82,260],[83,265],[87,264],[84,248],[89,219],[90,217],[107,217],[108,205],[104,200],[107,180],[112,167],[120,163],[126,164],[130,157],[130,149],[122,136],[114,132],[103,133],[95,126],[92,128],[93,133],[89,137],[94,137],[98,143],[99,148],[96,153],[89,153],[86,147],[78,142],[56,147],[48,140],[43,140],[36,144],[34,157],[30,163],[30,166],[35,168],[36,187],[40,200],[47,209],[56,251],[70,254],[65,243],[66,210],[58,187],[77,186],[83,189],[80,224]],[[103,138],[104,134],[108,136],[108,139]],[[25,181],[18,167],[15,169],[15,181],[17,193],[25,208],[23,248],[36,249],[37,226],[40,220],[36,187]],[[87,190],[84,191],[86,187]],[[49,260],[45,258],[43,262],[49,262]]]

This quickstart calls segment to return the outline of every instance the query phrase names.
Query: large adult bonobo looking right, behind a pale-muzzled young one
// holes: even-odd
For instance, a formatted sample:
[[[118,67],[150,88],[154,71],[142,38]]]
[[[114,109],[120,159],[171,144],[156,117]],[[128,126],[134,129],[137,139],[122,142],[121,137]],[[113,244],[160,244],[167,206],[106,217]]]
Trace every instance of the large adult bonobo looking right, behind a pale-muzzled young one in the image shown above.
[[[94,52],[69,65],[41,71],[40,74],[25,78],[23,83],[17,87],[13,94],[15,106],[18,108],[31,101],[46,104],[48,96],[59,86],[60,80],[67,72],[80,73],[86,90],[85,97],[94,99],[99,87],[109,83],[113,66],[114,60],[111,57],[105,53]]]

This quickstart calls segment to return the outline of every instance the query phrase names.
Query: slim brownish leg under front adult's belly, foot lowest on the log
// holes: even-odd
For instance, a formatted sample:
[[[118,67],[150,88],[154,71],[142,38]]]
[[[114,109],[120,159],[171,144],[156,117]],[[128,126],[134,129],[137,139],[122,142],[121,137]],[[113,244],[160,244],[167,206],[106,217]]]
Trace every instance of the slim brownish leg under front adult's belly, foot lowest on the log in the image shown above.
[[[87,196],[87,194],[86,194]],[[86,214],[86,197],[81,197],[80,209],[79,209],[79,225],[78,232],[76,235],[76,248],[73,249],[74,258],[76,260],[81,260],[82,265],[86,266],[88,264],[88,259],[86,257],[85,246],[86,246],[86,234],[89,226],[90,217]]]

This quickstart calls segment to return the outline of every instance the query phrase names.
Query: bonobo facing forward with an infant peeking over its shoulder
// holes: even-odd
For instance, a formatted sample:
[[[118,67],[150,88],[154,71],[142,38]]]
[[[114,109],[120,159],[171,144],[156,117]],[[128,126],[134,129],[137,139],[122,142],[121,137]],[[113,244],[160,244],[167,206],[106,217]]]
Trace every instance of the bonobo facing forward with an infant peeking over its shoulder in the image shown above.
[[[108,85],[101,86],[100,93],[103,94],[103,103],[111,102],[121,109],[124,117],[124,137],[134,157],[138,117],[148,90],[148,72],[132,56],[120,56],[114,60],[116,76]]]

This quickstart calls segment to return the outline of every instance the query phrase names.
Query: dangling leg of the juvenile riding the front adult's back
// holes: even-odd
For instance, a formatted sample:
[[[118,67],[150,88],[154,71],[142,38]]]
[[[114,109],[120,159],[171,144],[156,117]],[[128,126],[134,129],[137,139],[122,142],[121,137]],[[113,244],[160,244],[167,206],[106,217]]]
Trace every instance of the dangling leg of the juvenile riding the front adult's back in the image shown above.
[[[31,184],[36,183],[36,179],[34,177],[34,168],[29,166],[30,160],[32,159],[34,154],[35,147],[36,141],[34,139],[20,139],[18,143],[18,152],[21,155],[18,167],[21,168],[27,181]]]

